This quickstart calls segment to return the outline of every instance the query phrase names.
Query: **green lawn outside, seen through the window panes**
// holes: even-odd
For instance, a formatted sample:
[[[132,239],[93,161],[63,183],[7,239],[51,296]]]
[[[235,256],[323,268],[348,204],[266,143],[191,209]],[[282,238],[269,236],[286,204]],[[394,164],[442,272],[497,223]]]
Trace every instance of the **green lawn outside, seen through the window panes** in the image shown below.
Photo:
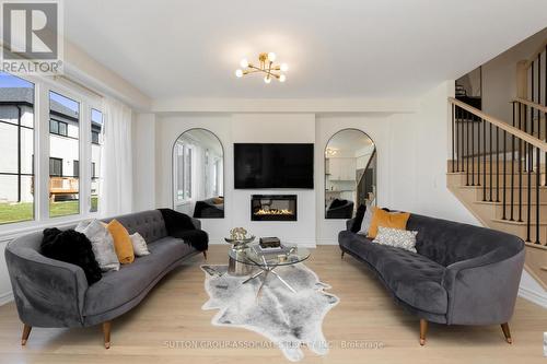
[[[91,198],[92,211],[97,211],[97,198]],[[0,203],[0,224],[28,221],[34,219],[33,203]],[[49,202],[51,218],[77,214],[80,211],[79,201]]]

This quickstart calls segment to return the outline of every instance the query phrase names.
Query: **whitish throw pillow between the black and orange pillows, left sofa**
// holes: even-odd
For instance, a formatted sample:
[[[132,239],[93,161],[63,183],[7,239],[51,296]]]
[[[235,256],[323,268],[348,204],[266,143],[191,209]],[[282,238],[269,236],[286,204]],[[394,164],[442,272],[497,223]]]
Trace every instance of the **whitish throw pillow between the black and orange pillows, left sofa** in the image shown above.
[[[114,248],[114,239],[108,230],[98,220],[82,221],[74,230],[90,239],[95,260],[102,271],[119,270],[119,260]]]

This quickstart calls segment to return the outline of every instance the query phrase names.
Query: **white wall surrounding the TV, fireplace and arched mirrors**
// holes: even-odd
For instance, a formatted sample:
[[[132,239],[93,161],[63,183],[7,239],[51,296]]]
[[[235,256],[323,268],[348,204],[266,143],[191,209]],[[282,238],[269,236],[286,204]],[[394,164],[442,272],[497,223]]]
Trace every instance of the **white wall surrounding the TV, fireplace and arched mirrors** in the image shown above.
[[[234,226],[244,226],[257,236],[274,235],[301,245],[337,244],[346,221],[325,219],[325,148],[338,131],[357,129],[375,144],[379,206],[478,224],[446,188],[450,154],[446,99],[453,94],[452,81],[412,98],[389,101],[309,99],[296,104],[292,99],[257,99],[194,105],[158,102],[153,128],[143,122],[137,124],[135,130],[138,139],[151,133],[155,137],[147,152],[155,155],[155,175],[143,173],[135,179],[155,186],[155,207],[172,206],[172,146],[184,131],[205,128],[224,145],[225,161],[225,218],[202,220],[211,244],[225,244],[223,237]],[[233,144],[245,142],[314,143],[314,189],[234,189]],[[255,193],[296,195],[298,221],[252,221],[249,203]]]

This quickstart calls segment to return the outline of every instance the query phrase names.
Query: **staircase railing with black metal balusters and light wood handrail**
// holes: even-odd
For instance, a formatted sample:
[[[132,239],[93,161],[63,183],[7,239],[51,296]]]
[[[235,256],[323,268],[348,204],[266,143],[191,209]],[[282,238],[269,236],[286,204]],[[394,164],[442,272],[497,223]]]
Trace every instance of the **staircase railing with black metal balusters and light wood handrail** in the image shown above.
[[[465,174],[465,186],[477,187],[482,201],[499,207],[502,221],[522,226],[527,243],[547,246],[547,213],[542,216],[542,193],[547,197],[547,107],[515,98],[508,124],[455,98],[449,103],[451,171]]]

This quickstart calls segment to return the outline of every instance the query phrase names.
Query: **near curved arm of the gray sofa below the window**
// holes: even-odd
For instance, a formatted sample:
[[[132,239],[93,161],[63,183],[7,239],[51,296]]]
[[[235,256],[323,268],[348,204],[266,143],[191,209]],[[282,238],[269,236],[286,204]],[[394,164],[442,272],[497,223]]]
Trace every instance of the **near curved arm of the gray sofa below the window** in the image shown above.
[[[83,270],[13,243],[5,261],[21,320],[34,327],[81,327],[88,290]]]

